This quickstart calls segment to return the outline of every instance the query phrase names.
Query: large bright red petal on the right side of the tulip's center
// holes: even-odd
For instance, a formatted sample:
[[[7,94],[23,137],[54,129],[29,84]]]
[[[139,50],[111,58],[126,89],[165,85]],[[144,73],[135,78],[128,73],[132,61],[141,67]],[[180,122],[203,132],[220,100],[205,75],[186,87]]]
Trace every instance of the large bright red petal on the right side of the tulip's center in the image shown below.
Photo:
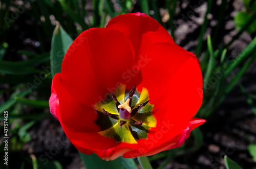
[[[142,82],[155,105],[157,121],[187,122],[196,114],[203,99],[198,59],[170,43],[149,46],[143,56],[147,63],[141,68]]]

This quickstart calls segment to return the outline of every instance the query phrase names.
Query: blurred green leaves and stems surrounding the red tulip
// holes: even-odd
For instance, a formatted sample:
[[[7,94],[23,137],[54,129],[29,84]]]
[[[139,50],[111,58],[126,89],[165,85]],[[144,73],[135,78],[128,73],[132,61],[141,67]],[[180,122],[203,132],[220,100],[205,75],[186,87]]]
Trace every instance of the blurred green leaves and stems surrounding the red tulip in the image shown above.
[[[9,134],[12,136],[9,144],[11,152],[18,152],[24,143],[31,139],[28,131],[32,126],[51,116],[47,103],[50,96],[51,78],[60,71],[59,67],[51,71],[51,67],[53,67],[51,65],[54,63],[50,64],[50,59],[52,61],[53,57],[57,56],[54,50],[62,50],[62,56],[58,57],[61,61],[72,39],[75,39],[82,31],[94,27],[104,27],[110,18],[138,11],[155,18],[170,31],[175,39],[174,21],[178,3],[175,0],[117,0],[115,3],[106,0],[1,1],[0,18],[3,19],[0,20],[0,84],[7,87],[0,89],[0,93],[5,98],[5,102],[0,106],[0,114],[2,115],[4,111],[8,110],[9,124],[15,124],[9,126]],[[207,27],[209,27],[207,15],[211,13],[212,3],[215,2],[209,0],[206,3],[207,10],[204,14],[204,22],[200,26],[195,52],[201,60],[204,77],[203,91],[199,91],[204,93],[204,101],[197,116],[207,119],[222,104],[234,86],[240,83],[240,79],[255,60],[256,38],[253,38],[244,51],[233,60],[230,60],[226,54],[229,52],[229,46],[243,32],[255,32],[256,14],[255,2],[244,1],[246,12],[238,12],[234,18],[239,31],[227,44],[219,44],[216,39],[224,23],[227,1],[221,1],[216,29],[211,33],[212,36],[207,38],[205,38]],[[13,8],[16,10],[12,10]],[[166,10],[167,21],[164,21],[160,9]],[[16,22],[24,18],[32,20],[31,24],[34,26],[37,41],[35,46],[37,47],[35,47],[36,50],[18,50],[16,56],[22,57],[12,58],[10,57],[10,46],[13,41],[9,36],[14,30]],[[50,52],[51,45],[53,50]],[[237,73],[231,76],[235,69]],[[242,85],[240,85],[240,89],[256,114],[256,96],[247,93]],[[3,117],[0,119],[3,120]],[[3,136],[2,133],[0,135]],[[188,144],[188,141],[193,144]],[[200,129],[194,130],[188,141],[180,148],[159,153],[149,159],[154,161],[164,158],[164,162],[159,166],[159,168],[164,168],[176,156],[196,152],[203,144],[203,135]],[[249,148],[249,151],[251,149]],[[3,149],[1,148],[0,151],[3,152]],[[98,160],[96,158],[91,160],[93,159]],[[38,163],[36,160],[33,162]],[[225,158],[225,162],[226,165],[232,163],[228,157]],[[27,163],[33,165],[29,158],[18,167],[22,166],[21,168],[23,168],[27,166]],[[57,161],[51,161],[50,164],[53,166],[52,168],[61,168]],[[3,166],[3,163],[0,166]]]

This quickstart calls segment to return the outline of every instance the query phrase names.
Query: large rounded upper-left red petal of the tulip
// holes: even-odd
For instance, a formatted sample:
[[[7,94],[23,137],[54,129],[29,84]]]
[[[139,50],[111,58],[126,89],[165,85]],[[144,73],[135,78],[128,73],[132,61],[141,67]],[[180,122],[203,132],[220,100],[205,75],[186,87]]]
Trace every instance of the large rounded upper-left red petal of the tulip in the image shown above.
[[[76,38],[63,59],[62,82],[74,99],[91,107],[124,83],[123,74],[133,62],[133,47],[121,32],[90,29]]]

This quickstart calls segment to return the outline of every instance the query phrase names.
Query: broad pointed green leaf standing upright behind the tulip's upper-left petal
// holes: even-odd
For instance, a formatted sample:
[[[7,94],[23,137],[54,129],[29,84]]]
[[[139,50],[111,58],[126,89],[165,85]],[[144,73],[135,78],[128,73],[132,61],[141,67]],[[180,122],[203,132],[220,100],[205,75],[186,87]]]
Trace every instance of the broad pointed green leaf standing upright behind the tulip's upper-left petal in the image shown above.
[[[56,28],[53,31],[50,54],[52,78],[56,73],[61,72],[62,60],[72,42],[72,38],[57,22]]]

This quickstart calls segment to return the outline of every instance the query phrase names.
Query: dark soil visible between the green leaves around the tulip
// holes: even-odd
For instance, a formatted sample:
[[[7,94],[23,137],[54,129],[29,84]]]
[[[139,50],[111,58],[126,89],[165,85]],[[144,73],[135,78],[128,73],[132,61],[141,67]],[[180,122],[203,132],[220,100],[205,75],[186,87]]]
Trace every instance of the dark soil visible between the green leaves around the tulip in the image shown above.
[[[203,1],[202,1],[203,2]],[[200,1],[179,1],[177,4],[176,21],[176,43],[184,47],[184,49],[195,53],[197,38],[200,31],[200,25],[203,22],[204,13],[206,12],[206,3],[202,3],[199,7],[191,10],[190,6],[198,6]],[[161,1],[159,3],[161,5]],[[212,10],[208,16],[210,21],[207,26],[207,33],[211,34],[216,26],[216,20],[219,12],[219,1],[214,1]],[[230,38],[237,32],[234,29],[233,17],[237,11],[244,10],[243,3],[239,0],[228,1],[228,7],[225,12],[225,21],[220,28],[220,34],[216,41],[221,45],[227,43]],[[90,6],[89,6],[90,11]],[[193,11],[193,14],[189,14]],[[133,12],[138,12],[135,8]],[[166,11],[161,10],[164,17]],[[183,14],[183,15],[182,15]],[[8,44],[10,45],[4,60],[18,61],[23,60],[23,56],[18,54],[18,50],[30,52],[39,52],[38,39],[36,37],[35,27],[40,27],[29,15],[22,14],[15,21],[13,27],[9,31]],[[44,32],[41,32],[44,34]],[[4,36],[4,35],[3,35]],[[254,35],[243,33],[228,49],[227,56],[235,58],[245,46],[251,41]],[[205,37],[206,38],[206,37]],[[50,42],[45,41],[45,46],[50,50]],[[206,48],[206,43],[203,46]],[[218,46],[214,46],[218,47]],[[236,74],[236,72],[234,72]],[[256,91],[256,62],[248,69],[243,76],[241,83],[245,86],[246,91],[255,93]],[[8,86],[1,86],[5,89]],[[49,88],[42,88],[44,92],[49,93]],[[1,95],[1,102],[8,100],[11,93]],[[36,112],[34,109],[28,109],[28,112]],[[24,123],[27,121],[24,120]],[[215,111],[207,122],[201,126],[204,136],[202,148],[194,154],[178,156],[170,161],[166,168],[225,168],[224,155],[228,155],[245,169],[256,168],[249,155],[247,146],[250,141],[256,143],[256,117],[251,107],[246,103],[244,94],[241,93],[237,85],[227,96],[224,103]],[[48,159],[56,159],[63,168],[83,168],[77,150],[66,138],[62,128],[54,117],[49,117],[35,124],[29,131],[31,141],[25,143],[22,149],[16,153],[10,154],[10,168],[20,168],[20,163],[24,160],[21,157],[28,157],[34,154],[42,162]],[[62,146],[59,146],[61,144]],[[55,150],[58,151],[55,153]],[[54,156],[49,152],[54,152]],[[164,159],[153,162],[154,168],[159,166]],[[188,163],[189,166],[186,164]],[[17,165],[16,165],[17,164]],[[27,168],[27,167],[26,167]],[[29,168],[29,167],[28,167]]]

